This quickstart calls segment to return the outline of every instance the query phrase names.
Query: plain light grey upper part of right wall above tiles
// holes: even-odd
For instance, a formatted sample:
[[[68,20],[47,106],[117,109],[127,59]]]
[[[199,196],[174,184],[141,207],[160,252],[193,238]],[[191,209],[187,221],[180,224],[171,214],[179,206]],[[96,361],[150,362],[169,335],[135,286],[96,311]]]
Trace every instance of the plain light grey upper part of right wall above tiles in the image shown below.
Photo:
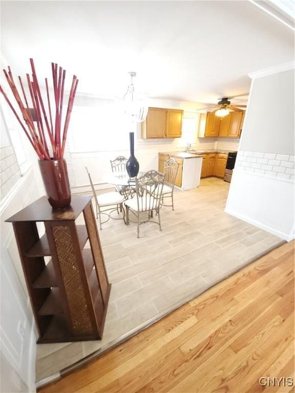
[[[241,150],[294,154],[293,86],[294,70],[254,80]]]

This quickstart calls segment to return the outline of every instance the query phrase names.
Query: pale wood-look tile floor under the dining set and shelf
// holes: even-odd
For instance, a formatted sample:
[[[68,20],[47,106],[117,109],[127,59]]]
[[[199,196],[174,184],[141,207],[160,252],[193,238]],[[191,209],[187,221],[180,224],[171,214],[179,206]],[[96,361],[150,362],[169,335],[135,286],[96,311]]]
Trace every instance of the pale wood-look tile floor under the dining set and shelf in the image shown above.
[[[162,228],[111,220],[100,231],[112,291],[101,341],[40,344],[37,381],[95,356],[240,270],[282,239],[224,212],[229,184],[217,178],[175,192]]]

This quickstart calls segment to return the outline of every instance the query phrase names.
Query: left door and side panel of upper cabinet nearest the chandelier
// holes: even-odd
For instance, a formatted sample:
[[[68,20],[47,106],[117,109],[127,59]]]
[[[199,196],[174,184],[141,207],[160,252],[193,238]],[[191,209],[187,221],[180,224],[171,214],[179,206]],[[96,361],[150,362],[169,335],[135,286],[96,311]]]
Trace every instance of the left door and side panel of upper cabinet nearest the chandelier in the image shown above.
[[[142,138],[164,138],[166,131],[166,110],[149,108],[145,121],[141,125]]]

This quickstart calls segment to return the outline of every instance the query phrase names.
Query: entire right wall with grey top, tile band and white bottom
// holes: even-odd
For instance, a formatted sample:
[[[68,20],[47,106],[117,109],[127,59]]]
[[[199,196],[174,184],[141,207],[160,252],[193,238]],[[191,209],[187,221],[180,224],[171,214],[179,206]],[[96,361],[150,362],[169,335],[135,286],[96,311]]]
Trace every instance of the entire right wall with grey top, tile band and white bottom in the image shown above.
[[[287,241],[295,236],[294,70],[286,70],[290,67],[272,69],[271,74],[266,70],[252,79],[225,208]]]

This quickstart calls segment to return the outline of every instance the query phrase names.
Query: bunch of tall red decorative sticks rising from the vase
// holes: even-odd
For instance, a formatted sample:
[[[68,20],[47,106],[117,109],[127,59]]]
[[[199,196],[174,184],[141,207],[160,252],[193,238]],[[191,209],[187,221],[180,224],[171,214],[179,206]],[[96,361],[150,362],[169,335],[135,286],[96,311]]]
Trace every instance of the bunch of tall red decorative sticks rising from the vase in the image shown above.
[[[32,105],[29,103],[27,99],[22,78],[20,78],[19,76],[18,80],[20,84],[20,91],[21,91],[20,94],[23,95],[24,102],[23,99],[20,97],[20,94],[16,88],[10,67],[8,67],[7,71],[4,70],[4,74],[7,79],[8,85],[18,104],[19,110],[23,115],[25,123],[23,123],[22,120],[20,120],[15,108],[11,104],[2,86],[0,86],[0,93],[4,96],[5,100],[10,106],[14,116],[19,122],[20,126],[23,128],[27,138],[29,139],[29,142],[35,149],[39,159],[50,160],[50,152],[47,144],[46,131],[51,143],[53,158],[61,159],[64,156],[68,127],[69,127],[71,112],[74,104],[74,98],[76,95],[78,79],[75,75],[73,76],[73,81],[72,81],[72,86],[71,86],[71,91],[68,101],[67,114],[64,124],[64,132],[62,134],[62,141],[61,141],[62,105],[64,101],[66,71],[62,70],[61,67],[58,67],[56,63],[51,63],[53,92],[54,92],[54,101],[55,101],[55,124],[53,124],[53,113],[51,111],[48,80],[47,78],[45,79],[49,116],[47,115],[47,110],[45,108],[44,101],[41,95],[40,86],[38,83],[38,78],[36,75],[33,59],[30,59],[30,63],[32,69],[32,80],[29,74],[27,74],[27,82],[28,82]],[[33,111],[35,115],[34,119],[32,117],[30,106],[31,107],[33,106]],[[37,123],[36,126],[34,122]]]

